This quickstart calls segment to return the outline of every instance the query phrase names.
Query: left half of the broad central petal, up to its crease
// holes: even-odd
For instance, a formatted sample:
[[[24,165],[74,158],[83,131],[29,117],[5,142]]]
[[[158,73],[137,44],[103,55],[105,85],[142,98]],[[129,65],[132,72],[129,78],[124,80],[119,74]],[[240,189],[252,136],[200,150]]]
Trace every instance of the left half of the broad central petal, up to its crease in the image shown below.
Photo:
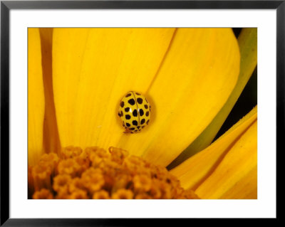
[[[63,147],[107,149],[123,137],[120,98],[144,93],[174,28],[55,28],[53,89]],[[128,135],[129,136],[129,135]]]

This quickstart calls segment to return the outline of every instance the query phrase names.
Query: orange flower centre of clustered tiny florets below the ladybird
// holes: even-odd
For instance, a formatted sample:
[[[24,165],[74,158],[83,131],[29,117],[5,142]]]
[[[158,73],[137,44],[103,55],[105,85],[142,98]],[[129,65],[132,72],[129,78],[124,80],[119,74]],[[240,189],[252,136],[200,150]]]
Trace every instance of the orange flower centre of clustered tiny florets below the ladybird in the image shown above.
[[[199,199],[164,167],[110,147],[66,147],[28,167],[29,199]]]

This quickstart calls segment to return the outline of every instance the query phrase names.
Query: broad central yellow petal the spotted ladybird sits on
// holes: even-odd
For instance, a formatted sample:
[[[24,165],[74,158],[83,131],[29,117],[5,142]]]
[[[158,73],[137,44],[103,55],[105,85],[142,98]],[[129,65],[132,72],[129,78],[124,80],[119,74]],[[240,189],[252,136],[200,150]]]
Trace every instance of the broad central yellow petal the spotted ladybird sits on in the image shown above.
[[[53,34],[63,147],[113,145],[166,166],[212,121],[239,73],[237,41],[227,28],[56,28]],[[150,125],[139,134],[123,134],[117,116],[130,90],[152,105]]]

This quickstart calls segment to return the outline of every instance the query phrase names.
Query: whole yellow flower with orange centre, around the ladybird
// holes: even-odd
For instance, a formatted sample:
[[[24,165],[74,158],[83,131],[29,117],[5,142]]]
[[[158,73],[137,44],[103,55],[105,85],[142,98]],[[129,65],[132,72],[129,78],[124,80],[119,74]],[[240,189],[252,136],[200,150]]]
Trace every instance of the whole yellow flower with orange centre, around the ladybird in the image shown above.
[[[30,193],[257,199],[257,107],[211,144],[256,65],[254,28],[29,28]],[[152,107],[135,134],[130,90]]]

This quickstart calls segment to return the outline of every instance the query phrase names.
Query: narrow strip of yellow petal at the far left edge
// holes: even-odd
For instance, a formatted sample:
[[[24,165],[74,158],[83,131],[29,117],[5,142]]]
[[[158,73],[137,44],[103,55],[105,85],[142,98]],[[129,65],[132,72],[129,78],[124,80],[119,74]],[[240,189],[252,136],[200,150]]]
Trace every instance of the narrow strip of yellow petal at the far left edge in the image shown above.
[[[41,41],[38,28],[28,28],[28,164],[43,152],[44,116]]]

